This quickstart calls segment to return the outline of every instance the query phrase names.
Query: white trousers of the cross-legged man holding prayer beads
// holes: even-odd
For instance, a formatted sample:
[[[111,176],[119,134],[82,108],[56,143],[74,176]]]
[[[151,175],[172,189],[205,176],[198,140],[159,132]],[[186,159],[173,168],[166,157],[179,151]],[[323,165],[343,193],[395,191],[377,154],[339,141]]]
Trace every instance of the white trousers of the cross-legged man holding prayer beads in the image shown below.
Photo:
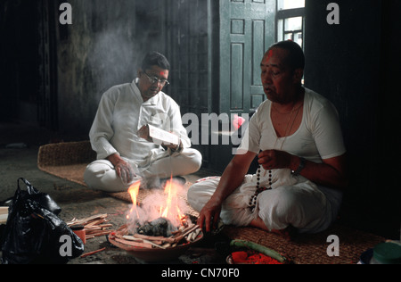
[[[256,190],[256,176],[247,175],[240,187],[229,195],[222,206],[220,219],[226,225],[249,226],[260,217],[266,227],[298,228],[299,233],[317,233],[328,228],[340,210],[342,193],[326,187],[317,187],[303,177],[291,176],[291,171],[274,173],[272,190],[258,195],[255,211],[250,209],[250,197]],[[216,191],[220,178],[202,178],[188,190],[188,202],[195,211],[201,211]],[[287,183],[287,184],[286,184]],[[261,180],[261,187],[263,179]]]

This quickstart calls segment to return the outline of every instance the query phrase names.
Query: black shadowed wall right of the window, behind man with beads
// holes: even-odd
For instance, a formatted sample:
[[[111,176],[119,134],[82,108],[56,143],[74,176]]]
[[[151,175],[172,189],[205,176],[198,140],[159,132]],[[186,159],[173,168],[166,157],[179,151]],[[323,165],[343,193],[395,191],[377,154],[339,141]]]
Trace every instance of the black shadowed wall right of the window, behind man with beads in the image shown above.
[[[327,4],[307,0],[306,87],[328,97],[339,113],[348,149],[349,186],[341,220],[376,233],[400,228],[397,70],[401,1],[335,1],[340,25],[329,25]],[[398,73],[398,75],[397,75]],[[399,104],[398,104],[399,105]]]

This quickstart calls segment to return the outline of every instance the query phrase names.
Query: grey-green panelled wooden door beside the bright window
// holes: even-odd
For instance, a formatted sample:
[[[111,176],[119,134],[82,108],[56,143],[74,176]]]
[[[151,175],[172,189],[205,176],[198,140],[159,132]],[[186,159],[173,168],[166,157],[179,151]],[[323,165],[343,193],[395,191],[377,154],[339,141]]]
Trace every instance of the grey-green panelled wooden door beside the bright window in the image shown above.
[[[265,100],[260,62],[274,44],[275,3],[220,0],[220,112],[254,112]]]

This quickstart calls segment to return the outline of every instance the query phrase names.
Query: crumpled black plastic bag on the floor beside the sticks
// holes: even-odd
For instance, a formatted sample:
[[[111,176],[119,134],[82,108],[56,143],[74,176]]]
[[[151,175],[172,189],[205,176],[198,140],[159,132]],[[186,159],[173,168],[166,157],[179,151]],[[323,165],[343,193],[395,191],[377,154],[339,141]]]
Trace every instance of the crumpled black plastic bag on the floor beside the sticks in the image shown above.
[[[17,183],[2,240],[3,264],[63,264],[83,253],[82,240],[58,217],[58,204],[26,179]]]

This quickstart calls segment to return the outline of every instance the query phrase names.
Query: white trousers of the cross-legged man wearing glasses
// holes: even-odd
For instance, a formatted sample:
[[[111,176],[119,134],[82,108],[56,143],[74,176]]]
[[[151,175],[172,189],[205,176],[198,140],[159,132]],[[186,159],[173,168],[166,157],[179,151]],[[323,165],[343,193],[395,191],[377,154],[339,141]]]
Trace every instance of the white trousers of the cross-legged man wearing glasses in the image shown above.
[[[135,171],[141,170],[138,180],[141,179],[145,184],[146,181],[155,182],[160,178],[169,178],[173,176],[184,176],[200,170],[202,156],[201,153],[192,148],[185,148],[181,153],[173,153],[166,155],[163,153],[160,158],[155,158],[144,170],[137,168],[135,163],[131,163]],[[84,174],[86,185],[89,188],[101,190],[105,192],[124,192],[127,191],[129,185],[124,185],[117,175],[114,166],[107,160],[97,160],[90,163],[86,167]],[[135,179],[134,179],[135,181]],[[146,186],[142,186],[146,187]],[[149,187],[149,185],[148,185]]]

